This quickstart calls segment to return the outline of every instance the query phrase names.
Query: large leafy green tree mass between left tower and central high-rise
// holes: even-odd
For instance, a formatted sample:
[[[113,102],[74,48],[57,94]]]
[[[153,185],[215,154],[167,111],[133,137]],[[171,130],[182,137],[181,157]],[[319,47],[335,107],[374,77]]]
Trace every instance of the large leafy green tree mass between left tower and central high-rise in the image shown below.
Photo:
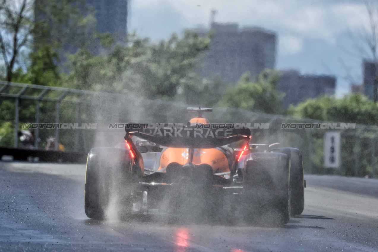
[[[178,88],[193,79],[198,56],[210,46],[210,38],[186,31],[168,41],[151,43],[131,34],[124,45],[102,37],[107,55],[81,49],[70,55],[68,87],[116,93],[138,93],[147,98],[174,100]]]

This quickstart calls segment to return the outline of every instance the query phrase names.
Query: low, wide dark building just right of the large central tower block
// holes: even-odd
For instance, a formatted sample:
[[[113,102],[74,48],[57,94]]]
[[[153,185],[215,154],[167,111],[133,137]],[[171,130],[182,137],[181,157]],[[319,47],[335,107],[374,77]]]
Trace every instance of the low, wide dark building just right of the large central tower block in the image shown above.
[[[296,70],[281,71],[278,90],[284,92],[283,106],[296,105],[319,95],[334,95],[336,78],[331,75],[301,75]]]

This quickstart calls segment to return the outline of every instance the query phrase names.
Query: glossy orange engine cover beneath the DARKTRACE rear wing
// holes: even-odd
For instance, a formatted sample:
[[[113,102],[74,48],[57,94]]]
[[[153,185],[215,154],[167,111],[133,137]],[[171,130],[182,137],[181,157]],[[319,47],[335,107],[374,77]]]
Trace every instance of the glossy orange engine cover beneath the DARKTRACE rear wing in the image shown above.
[[[184,165],[188,162],[189,149],[167,148],[160,156],[159,170],[165,169],[170,163]],[[219,149],[194,149],[193,164],[209,164],[213,173],[229,172],[228,160],[226,155]]]

